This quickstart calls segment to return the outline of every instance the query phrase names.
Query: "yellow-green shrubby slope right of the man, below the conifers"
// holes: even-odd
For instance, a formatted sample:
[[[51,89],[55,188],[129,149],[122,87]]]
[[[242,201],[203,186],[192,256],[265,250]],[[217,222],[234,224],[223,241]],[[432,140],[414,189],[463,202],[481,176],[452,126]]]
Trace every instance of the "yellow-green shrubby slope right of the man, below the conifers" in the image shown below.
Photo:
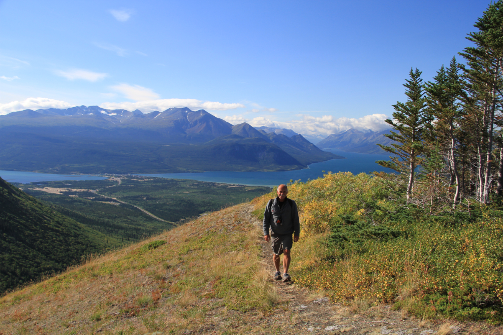
[[[332,301],[393,304],[419,317],[503,321],[503,211],[431,215],[393,183],[338,173],[289,186],[301,212],[297,283]],[[273,193],[254,200],[263,211]]]

